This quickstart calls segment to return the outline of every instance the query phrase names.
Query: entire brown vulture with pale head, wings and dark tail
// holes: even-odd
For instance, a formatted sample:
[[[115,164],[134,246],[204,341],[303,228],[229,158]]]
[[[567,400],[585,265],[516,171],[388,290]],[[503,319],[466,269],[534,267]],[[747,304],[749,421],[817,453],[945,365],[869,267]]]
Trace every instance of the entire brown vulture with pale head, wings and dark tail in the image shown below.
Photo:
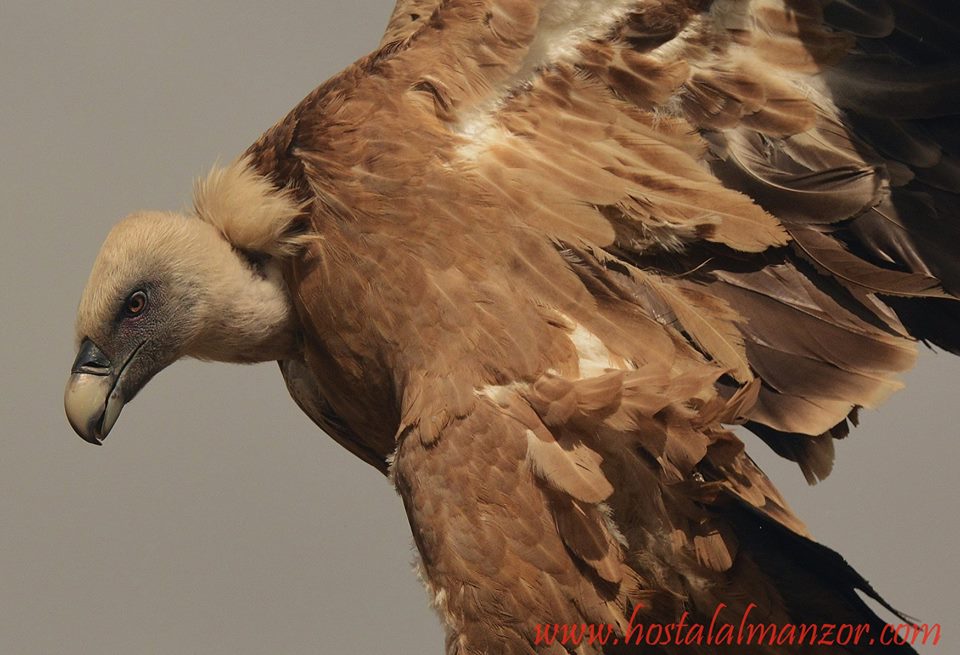
[[[718,608],[877,636],[724,426],[815,482],[917,340],[960,350],[940,8],[401,0],[192,215],[111,233],[68,416],[99,442],[181,356],[278,360],[395,485],[450,654],[713,653],[628,637]],[[737,652],[913,652],[818,643]]]

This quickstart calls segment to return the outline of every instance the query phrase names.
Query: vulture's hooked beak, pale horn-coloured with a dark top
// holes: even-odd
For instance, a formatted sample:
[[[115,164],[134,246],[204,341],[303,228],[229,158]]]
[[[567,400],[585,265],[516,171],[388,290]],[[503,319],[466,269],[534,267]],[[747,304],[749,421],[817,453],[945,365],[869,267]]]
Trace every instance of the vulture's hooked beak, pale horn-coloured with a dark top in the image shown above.
[[[80,344],[67,380],[63,405],[70,426],[84,441],[99,446],[117,422],[127,400],[119,383],[139,350],[138,346],[117,368],[90,339]]]

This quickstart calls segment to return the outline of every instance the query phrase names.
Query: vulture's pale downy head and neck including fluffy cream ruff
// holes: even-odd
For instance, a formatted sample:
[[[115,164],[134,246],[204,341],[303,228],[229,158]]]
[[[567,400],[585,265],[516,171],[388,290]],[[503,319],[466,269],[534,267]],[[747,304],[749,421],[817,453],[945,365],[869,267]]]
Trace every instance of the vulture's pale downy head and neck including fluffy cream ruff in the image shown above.
[[[289,294],[271,255],[287,245],[278,235],[299,208],[242,161],[200,183],[195,205],[189,215],[128,216],[100,249],[64,395],[71,426],[90,443],[100,444],[124,404],[181,357],[249,363],[295,349]]]

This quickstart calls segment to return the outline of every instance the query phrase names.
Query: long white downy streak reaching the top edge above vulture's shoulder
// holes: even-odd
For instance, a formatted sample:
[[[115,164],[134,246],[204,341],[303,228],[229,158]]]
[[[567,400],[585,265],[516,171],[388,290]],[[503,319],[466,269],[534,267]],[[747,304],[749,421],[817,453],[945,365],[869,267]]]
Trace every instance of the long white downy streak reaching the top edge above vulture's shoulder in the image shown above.
[[[491,90],[490,96],[470,107],[453,126],[468,143],[458,152],[476,159],[491,144],[511,138],[496,121],[496,112],[513,90],[531,84],[537,71],[550,64],[574,61],[577,46],[602,38],[636,6],[637,0],[552,0],[540,12],[540,24],[517,72]]]

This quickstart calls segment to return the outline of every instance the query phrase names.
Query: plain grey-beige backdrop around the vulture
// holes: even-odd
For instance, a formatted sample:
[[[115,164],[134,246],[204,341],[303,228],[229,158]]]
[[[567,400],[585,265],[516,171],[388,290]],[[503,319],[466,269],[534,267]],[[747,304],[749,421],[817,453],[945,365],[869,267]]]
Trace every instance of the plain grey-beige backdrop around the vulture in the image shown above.
[[[124,214],[177,209],[371,50],[391,0],[0,8],[0,653],[440,653],[399,499],[303,416],[275,365],[181,362],[102,448],[62,393],[73,318]],[[824,543],[960,644],[960,362],[908,388],[808,488],[749,448]]]

